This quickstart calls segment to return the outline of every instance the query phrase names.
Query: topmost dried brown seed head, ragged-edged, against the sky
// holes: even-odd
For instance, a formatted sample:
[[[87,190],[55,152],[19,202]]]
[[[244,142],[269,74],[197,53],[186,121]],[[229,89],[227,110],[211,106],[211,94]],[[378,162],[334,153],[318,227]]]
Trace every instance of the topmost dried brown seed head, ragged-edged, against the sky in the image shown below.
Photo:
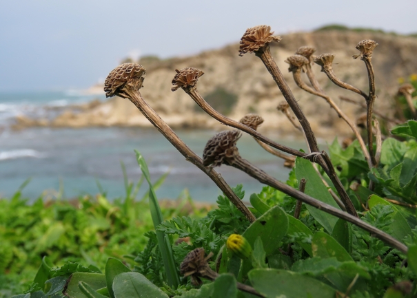
[[[267,25],[260,25],[247,29],[241,38],[239,56],[243,56],[247,52],[256,52],[272,41],[281,41],[280,36],[272,36],[272,34],[274,34],[274,32],[271,32],[271,27]]]

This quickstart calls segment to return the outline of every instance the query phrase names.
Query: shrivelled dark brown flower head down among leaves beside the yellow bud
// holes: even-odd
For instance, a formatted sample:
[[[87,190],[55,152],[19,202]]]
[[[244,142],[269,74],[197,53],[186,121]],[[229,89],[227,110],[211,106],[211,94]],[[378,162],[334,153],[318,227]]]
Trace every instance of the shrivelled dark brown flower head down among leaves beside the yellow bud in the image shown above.
[[[193,284],[201,284],[201,279],[199,277],[214,277],[212,276],[213,273],[211,272],[210,266],[207,264],[207,260],[212,257],[213,253],[209,253],[207,257],[204,257],[204,255],[204,248],[196,248],[193,251],[190,251],[181,263],[180,273],[184,275],[184,277],[191,275]]]

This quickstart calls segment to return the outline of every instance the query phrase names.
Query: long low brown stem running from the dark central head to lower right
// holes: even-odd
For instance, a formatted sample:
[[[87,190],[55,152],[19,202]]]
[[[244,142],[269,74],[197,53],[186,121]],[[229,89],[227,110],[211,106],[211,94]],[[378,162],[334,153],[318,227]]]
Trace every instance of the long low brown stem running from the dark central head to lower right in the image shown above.
[[[342,218],[343,220],[346,220],[347,222],[351,222],[352,224],[355,224],[356,226],[359,226],[360,228],[363,228],[365,231],[368,231],[370,235],[373,237],[376,237],[380,240],[383,240],[383,242],[389,244],[390,246],[393,246],[394,248],[397,248],[399,251],[403,253],[407,253],[407,246],[405,246],[403,243],[396,240],[391,235],[380,231],[375,226],[372,226],[371,224],[367,224],[366,222],[363,222],[358,217],[354,215],[350,215],[349,213],[343,212],[340,209],[335,208],[334,206],[330,206],[329,204],[325,204],[319,200],[316,200],[309,195],[306,195],[305,193],[302,193],[301,191],[297,191],[296,189],[293,189],[289,185],[276,180],[275,178],[271,177],[261,169],[258,169],[257,167],[254,167],[250,162],[247,162],[247,160],[244,160],[240,156],[234,155],[232,158],[225,158],[223,163],[230,165],[232,167],[235,167],[236,169],[240,169],[241,171],[244,171],[251,177],[255,178],[261,183],[267,184],[270,187],[274,187],[275,189],[278,189],[279,191],[282,191],[283,193],[286,193],[287,195],[292,196],[296,200],[301,200],[305,204],[309,204],[311,206],[314,206],[315,208],[319,210],[323,210],[326,213],[332,214],[336,217]]]

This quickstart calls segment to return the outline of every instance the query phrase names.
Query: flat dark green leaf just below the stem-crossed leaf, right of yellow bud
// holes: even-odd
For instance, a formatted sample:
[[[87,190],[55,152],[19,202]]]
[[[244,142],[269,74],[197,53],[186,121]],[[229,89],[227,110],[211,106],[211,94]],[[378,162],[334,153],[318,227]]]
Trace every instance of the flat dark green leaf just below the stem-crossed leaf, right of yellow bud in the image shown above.
[[[341,246],[332,236],[318,231],[314,234],[312,240],[312,251],[314,257],[336,257],[338,262],[353,261],[345,248]]]

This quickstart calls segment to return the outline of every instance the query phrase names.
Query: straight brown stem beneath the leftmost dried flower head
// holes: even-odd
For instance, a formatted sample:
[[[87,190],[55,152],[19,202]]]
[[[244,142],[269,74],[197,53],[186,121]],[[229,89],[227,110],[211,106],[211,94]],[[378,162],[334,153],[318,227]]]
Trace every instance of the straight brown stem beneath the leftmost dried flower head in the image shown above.
[[[225,193],[227,198],[230,199],[234,206],[236,206],[236,208],[239,211],[241,211],[243,215],[245,215],[247,220],[249,220],[250,222],[254,222],[256,220],[256,217],[236,196],[236,194],[232,191],[230,186],[225,182],[221,175],[213,169],[209,169],[203,166],[203,160],[201,160],[201,158],[197,156],[196,153],[194,153],[194,151],[188,148],[187,145],[185,145],[185,143],[183,142],[183,140],[181,140],[181,138],[179,138],[174,133],[174,131],[172,131],[171,127],[167,125],[165,121],[162,120],[161,117],[159,117],[158,114],[156,114],[152,107],[150,107],[148,103],[146,103],[145,100],[143,100],[141,93],[138,90],[131,88],[129,85],[125,85],[125,87],[123,87],[123,89],[121,89],[120,92],[123,93],[125,98],[129,98],[130,101],[132,101],[132,103],[136,105],[136,107],[141,111],[141,113],[146,118],[148,118],[150,123],[152,123],[152,125],[154,125],[154,127],[156,127],[156,129],[158,129],[161,132],[161,134],[163,134],[163,136],[165,136],[165,138],[169,140],[171,144],[174,145],[174,147],[179,152],[181,152],[181,154],[185,157],[186,160],[188,160],[192,164],[195,164],[196,167],[201,169],[201,171],[206,173],[213,180],[213,182],[216,183],[218,188],[221,189],[221,191]]]

